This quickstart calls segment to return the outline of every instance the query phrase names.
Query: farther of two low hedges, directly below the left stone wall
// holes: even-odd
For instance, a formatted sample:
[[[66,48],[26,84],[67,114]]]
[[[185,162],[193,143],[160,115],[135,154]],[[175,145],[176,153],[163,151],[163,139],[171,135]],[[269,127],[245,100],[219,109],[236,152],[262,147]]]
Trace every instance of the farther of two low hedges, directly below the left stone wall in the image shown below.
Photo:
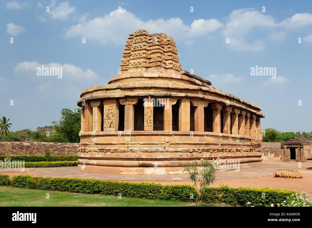
[[[5,158],[10,157],[12,161],[46,161],[44,155],[12,155],[12,156],[0,156],[0,161],[4,161]],[[51,155],[51,161],[78,161],[76,155]]]

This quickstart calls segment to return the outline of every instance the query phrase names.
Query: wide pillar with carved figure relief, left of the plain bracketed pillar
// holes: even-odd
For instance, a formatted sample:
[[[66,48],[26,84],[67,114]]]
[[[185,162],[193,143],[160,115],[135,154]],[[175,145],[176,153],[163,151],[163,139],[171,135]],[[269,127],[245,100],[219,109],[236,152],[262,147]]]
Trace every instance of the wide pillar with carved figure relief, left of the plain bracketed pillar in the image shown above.
[[[103,131],[118,131],[119,123],[119,102],[116,99],[108,99],[103,101]]]

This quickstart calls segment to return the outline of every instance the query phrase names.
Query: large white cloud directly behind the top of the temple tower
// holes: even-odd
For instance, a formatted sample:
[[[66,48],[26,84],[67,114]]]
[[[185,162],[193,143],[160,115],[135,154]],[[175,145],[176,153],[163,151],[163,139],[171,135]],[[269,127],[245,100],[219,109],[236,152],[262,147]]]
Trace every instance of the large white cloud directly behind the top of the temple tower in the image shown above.
[[[191,26],[187,26],[180,18],[168,20],[158,19],[142,21],[125,9],[117,9],[104,17],[84,21],[67,29],[65,38],[83,36],[87,39],[99,40],[101,43],[124,43],[124,37],[138,29],[146,29],[150,34],[166,33],[174,40],[188,39],[189,37],[205,35],[222,27],[222,23],[216,19],[195,20]],[[118,29],[116,29],[118,28]]]

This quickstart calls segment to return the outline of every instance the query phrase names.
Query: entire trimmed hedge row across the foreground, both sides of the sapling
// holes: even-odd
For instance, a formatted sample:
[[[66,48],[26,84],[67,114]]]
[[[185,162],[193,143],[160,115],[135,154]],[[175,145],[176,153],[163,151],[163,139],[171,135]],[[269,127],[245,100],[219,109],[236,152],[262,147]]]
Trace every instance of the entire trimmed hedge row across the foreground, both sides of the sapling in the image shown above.
[[[195,201],[196,189],[191,185],[162,185],[155,183],[132,183],[110,180],[80,179],[80,178],[43,178],[29,175],[18,175],[12,177],[11,181],[7,175],[0,174],[0,185],[9,185],[19,188],[42,189],[52,191],[68,191],[75,193],[89,193],[147,198],[182,200],[185,202]],[[200,197],[204,203],[225,202],[232,206],[250,205],[265,207],[282,203],[287,197],[296,192],[282,189],[266,188],[230,188],[229,186],[206,188]],[[191,199],[191,195],[193,198]],[[265,194],[265,195],[264,195]],[[265,197],[264,197],[265,196]],[[264,199],[263,199],[264,197]]]

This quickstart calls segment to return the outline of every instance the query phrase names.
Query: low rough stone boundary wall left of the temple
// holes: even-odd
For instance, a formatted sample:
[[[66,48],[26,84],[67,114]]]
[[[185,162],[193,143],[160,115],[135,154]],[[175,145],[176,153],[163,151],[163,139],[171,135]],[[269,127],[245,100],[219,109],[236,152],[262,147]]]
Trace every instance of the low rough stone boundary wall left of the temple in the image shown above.
[[[45,155],[50,148],[51,155],[77,155],[79,143],[63,142],[0,142],[0,156]]]

